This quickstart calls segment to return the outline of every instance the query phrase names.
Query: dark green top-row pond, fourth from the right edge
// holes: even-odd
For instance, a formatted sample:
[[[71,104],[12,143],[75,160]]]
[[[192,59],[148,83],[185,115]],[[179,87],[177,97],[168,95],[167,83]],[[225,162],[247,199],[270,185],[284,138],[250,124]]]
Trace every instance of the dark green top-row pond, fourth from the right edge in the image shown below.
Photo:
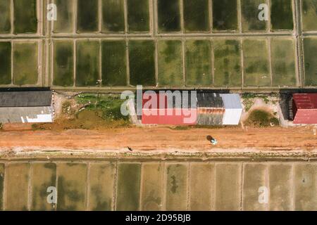
[[[237,30],[237,1],[213,1],[213,30]]]

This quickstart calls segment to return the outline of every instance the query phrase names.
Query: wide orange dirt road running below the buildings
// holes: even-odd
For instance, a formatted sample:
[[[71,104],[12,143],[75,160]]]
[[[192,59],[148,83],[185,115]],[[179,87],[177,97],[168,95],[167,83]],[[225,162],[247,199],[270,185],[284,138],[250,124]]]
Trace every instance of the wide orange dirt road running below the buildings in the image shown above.
[[[218,140],[211,146],[206,136]],[[317,136],[311,127],[265,129],[187,129],[168,127],[108,129],[103,131],[1,131],[0,148],[43,147],[121,150],[211,150],[212,148],[259,150],[314,150]]]

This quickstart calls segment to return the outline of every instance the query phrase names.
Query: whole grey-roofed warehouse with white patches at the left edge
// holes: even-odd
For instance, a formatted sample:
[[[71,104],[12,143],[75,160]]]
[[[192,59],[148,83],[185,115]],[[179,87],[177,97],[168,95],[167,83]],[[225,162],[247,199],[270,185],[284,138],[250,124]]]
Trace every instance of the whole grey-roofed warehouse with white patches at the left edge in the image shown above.
[[[0,122],[53,122],[51,91],[0,92]]]

